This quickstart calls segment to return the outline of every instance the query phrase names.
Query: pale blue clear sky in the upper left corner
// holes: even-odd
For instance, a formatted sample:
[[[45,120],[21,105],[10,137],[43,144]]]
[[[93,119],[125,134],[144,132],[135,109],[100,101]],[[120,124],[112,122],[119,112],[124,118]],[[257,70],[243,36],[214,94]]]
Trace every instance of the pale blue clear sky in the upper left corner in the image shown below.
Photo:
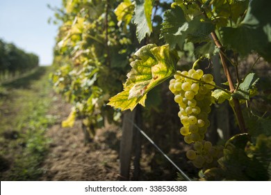
[[[58,26],[49,24],[61,0],[0,0],[0,38],[37,54],[40,65],[51,65]]]

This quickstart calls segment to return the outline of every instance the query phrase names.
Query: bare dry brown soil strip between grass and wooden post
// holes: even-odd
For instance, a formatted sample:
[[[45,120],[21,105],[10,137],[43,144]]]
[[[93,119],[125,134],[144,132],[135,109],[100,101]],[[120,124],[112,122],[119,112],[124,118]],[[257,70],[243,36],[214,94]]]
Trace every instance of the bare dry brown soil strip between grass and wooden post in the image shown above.
[[[72,128],[61,127],[71,106],[59,96],[53,97],[49,114],[58,120],[47,132],[51,143],[40,180],[118,180],[120,129],[107,125],[97,131],[92,143],[84,146],[80,121]]]

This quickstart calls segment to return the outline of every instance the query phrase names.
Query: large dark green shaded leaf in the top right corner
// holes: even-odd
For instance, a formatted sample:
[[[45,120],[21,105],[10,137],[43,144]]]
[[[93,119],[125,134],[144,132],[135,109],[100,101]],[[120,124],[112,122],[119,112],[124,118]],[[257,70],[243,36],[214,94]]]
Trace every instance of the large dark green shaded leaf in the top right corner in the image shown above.
[[[270,7],[271,1],[250,1],[247,14],[237,28],[222,28],[224,44],[243,56],[256,51],[266,61],[271,61]]]

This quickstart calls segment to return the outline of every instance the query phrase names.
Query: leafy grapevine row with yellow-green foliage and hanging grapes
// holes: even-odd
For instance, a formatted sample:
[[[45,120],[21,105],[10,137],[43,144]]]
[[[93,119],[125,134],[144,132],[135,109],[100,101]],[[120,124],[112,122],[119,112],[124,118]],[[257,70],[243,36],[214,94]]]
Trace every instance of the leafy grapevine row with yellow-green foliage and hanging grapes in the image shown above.
[[[216,171],[221,177],[234,179],[229,164],[238,162],[238,155],[245,159],[238,167],[252,161],[261,164],[261,158],[251,153],[261,153],[261,147],[256,147],[261,141],[266,143],[263,147],[269,147],[268,137],[260,135],[270,136],[270,132],[256,131],[249,124],[253,119],[264,129],[259,122],[263,117],[249,110],[249,101],[257,94],[258,77],[246,72],[241,78],[239,72],[241,59],[249,54],[257,55],[256,61],[260,56],[271,61],[270,21],[258,14],[260,8],[261,13],[269,13],[269,7],[265,0],[178,0],[171,6],[154,0],[64,3],[54,86],[74,104],[71,120],[82,118],[85,125],[95,129],[106,117],[112,119],[138,104],[145,106],[149,91],[170,80],[169,89],[179,105],[179,131],[190,144],[187,158],[203,169],[206,180]],[[161,15],[156,12],[159,9]],[[214,56],[220,57],[221,66],[213,64]],[[195,65],[181,71],[187,70],[182,67],[183,58],[189,59],[188,63],[191,59],[198,59],[195,63],[208,61],[210,70],[213,65],[220,74],[224,72],[218,76],[225,79],[224,85],[215,84],[213,75],[205,74],[203,68],[195,69]],[[212,104],[224,101],[236,115],[240,134],[231,134],[228,141],[223,140],[224,146],[216,146],[206,139],[211,124],[208,115]],[[252,114],[245,116],[249,111]],[[71,120],[66,124],[72,124]]]

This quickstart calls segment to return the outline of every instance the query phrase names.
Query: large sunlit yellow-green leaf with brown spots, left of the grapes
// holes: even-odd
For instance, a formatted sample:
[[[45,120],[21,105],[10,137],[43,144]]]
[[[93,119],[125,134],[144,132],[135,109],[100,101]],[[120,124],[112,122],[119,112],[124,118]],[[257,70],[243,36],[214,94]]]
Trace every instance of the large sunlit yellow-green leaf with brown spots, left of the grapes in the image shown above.
[[[179,56],[168,45],[146,45],[135,54],[132,70],[127,74],[124,91],[110,98],[108,105],[118,109],[131,109],[140,103],[145,106],[147,93],[172,76]]]

